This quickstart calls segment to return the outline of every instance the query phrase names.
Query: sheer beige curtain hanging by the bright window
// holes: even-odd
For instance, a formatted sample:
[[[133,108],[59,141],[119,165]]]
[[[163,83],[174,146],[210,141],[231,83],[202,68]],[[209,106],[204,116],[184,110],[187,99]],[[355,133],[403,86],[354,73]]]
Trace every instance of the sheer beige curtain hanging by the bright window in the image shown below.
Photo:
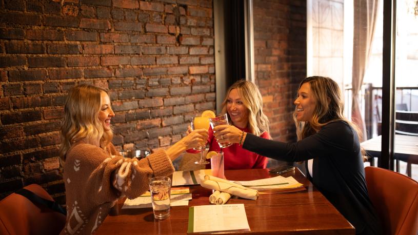
[[[362,141],[367,140],[364,119],[360,110],[360,90],[373,41],[379,0],[354,0],[353,77],[351,121],[362,131]]]

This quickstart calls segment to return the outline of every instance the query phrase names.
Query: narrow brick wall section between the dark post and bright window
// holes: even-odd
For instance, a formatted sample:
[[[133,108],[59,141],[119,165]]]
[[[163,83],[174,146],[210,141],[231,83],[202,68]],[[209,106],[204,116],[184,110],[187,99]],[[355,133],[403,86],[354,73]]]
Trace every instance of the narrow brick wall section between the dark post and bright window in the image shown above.
[[[293,100],[306,76],[306,1],[254,0],[256,83],[274,140],[294,141]]]

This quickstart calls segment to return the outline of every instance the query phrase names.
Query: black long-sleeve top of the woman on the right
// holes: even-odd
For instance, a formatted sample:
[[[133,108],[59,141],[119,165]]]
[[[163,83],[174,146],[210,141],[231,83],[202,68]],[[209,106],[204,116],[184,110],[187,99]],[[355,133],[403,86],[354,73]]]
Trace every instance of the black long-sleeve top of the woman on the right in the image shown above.
[[[308,174],[309,180],[355,227],[356,233],[382,233],[367,192],[360,141],[346,122],[331,122],[296,143],[247,133],[243,148],[287,162],[314,159],[313,178]]]

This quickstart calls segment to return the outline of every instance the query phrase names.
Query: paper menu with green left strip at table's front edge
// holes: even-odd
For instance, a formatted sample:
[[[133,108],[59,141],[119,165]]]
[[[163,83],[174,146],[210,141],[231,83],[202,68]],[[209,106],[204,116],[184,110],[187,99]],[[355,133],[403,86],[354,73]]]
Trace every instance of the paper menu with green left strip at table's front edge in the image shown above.
[[[189,207],[188,233],[230,230],[250,230],[244,204]]]

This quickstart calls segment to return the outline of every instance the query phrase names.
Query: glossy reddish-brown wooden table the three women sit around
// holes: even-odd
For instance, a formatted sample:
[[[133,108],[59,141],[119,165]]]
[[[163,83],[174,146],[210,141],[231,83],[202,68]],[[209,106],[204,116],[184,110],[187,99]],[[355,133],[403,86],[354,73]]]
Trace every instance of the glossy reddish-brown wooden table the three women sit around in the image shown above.
[[[297,169],[297,168],[296,168]],[[305,178],[300,170],[292,175],[307,190],[287,193],[260,194],[253,200],[231,198],[228,204],[245,205],[251,234],[354,234],[353,226]],[[228,180],[249,181],[274,177],[267,169],[226,170]],[[209,205],[212,190],[200,185],[190,186],[193,199],[189,206]],[[118,203],[122,207],[123,200]],[[96,234],[186,234],[189,206],[173,206],[170,218],[154,220],[152,208],[119,209],[109,215]],[[227,232],[228,233],[228,232]]]

